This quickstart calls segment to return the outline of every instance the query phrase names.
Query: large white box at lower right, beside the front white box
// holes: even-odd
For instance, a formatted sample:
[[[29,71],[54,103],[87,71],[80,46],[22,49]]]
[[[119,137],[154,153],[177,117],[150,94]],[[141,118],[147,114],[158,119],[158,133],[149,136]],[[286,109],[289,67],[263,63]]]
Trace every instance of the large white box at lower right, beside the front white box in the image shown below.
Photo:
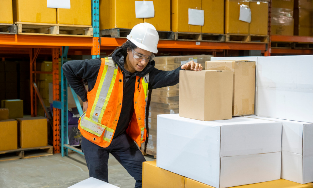
[[[312,123],[245,116],[282,123],[281,178],[305,184],[313,180]]]

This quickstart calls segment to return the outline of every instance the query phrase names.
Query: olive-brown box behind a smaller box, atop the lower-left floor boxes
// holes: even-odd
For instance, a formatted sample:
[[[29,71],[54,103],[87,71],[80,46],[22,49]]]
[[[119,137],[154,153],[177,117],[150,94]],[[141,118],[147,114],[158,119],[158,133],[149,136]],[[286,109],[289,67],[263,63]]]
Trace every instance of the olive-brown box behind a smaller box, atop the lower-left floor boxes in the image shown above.
[[[23,118],[23,100],[8,99],[1,101],[1,107],[9,109],[9,118]]]

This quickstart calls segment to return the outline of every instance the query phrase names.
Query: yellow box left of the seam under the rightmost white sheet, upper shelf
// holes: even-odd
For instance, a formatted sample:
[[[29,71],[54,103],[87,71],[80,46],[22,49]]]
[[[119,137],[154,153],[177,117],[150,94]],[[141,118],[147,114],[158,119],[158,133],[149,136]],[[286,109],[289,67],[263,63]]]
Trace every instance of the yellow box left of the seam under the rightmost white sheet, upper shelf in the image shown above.
[[[244,0],[225,0],[225,33],[249,34],[249,23],[239,20],[240,5],[250,6]]]

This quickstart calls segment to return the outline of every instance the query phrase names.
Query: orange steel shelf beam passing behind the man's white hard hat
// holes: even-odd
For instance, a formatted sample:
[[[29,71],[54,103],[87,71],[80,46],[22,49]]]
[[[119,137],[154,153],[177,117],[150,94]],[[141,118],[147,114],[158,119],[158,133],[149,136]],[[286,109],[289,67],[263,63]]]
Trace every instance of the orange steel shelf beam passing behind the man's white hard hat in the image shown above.
[[[101,49],[114,49],[121,46],[127,39],[101,37]],[[200,42],[181,40],[159,40],[158,48],[164,49],[222,49],[222,50],[266,50],[266,44],[259,43],[225,43],[225,42]]]

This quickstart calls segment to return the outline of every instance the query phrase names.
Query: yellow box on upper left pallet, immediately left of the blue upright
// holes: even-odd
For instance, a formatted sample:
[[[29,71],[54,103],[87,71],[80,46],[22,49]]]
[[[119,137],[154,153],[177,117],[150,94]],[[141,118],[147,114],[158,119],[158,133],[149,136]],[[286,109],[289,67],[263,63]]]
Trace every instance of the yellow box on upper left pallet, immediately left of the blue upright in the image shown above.
[[[57,8],[57,24],[91,25],[90,0],[71,1],[71,8]]]

